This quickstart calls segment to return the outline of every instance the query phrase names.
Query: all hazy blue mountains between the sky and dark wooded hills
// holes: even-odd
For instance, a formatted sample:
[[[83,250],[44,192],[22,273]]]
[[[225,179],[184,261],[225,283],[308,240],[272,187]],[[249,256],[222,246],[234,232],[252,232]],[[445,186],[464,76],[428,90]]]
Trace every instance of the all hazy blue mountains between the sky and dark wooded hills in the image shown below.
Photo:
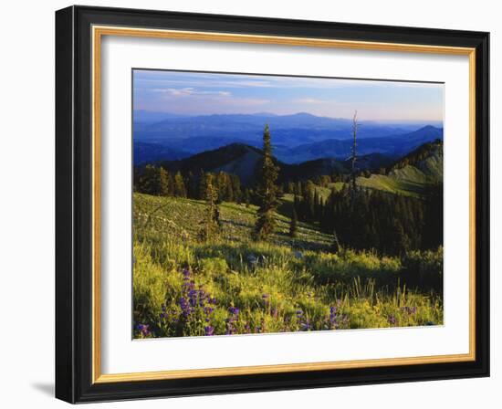
[[[347,147],[350,144],[351,121],[348,119],[318,117],[305,112],[294,115],[264,112],[189,117],[135,110],[134,163],[182,159],[234,142],[259,148],[266,123],[270,126],[275,154],[285,163],[301,163],[329,156],[344,159],[350,151]],[[421,142],[442,138],[441,127],[441,122],[361,121],[358,148],[363,154],[401,155]],[[319,152],[322,153],[320,156]]]

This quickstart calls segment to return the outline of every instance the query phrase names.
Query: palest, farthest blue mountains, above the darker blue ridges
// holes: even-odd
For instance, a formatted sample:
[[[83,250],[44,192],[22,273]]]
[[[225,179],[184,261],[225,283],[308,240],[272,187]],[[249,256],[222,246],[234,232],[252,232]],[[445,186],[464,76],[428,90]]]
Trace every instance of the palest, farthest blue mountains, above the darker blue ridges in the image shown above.
[[[163,117],[162,117],[163,115]],[[268,123],[277,150],[288,150],[307,143],[350,139],[351,120],[319,117],[306,112],[294,115],[215,114],[180,116],[161,112],[135,111],[134,142],[158,143],[172,150],[191,154],[216,149],[232,142],[259,147]],[[424,127],[423,121],[361,121],[360,139],[401,135]]]

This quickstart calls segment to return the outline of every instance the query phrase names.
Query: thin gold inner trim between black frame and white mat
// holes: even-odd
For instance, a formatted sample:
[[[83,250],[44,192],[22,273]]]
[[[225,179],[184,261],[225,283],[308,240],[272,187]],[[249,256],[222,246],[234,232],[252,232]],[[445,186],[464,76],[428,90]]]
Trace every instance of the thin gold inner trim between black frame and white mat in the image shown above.
[[[468,56],[469,58],[469,352],[357,361],[288,363],[159,372],[101,373],[100,336],[100,46],[103,36],[151,37],[293,47],[349,48]],[[92,26],[92,383],[153,381],[209,376],[305,372],[476,360],[476,49],[308,37],[254,36],[198,31]]]

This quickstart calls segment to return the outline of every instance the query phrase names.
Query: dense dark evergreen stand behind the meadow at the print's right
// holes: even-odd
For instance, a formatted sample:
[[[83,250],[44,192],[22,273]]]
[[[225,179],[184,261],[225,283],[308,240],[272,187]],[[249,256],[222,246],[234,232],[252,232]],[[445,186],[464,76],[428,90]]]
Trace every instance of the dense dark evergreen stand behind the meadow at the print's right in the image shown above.
[[[337,237],[337,247],[374,249],[382,254],[402,255],[410,249],[436,249],[443,244],[443,185],[431,187],[424,198],[349,187],[333,189],[326,200],[315,184],[302,185],[295,195],[298,220],[319,224]]]

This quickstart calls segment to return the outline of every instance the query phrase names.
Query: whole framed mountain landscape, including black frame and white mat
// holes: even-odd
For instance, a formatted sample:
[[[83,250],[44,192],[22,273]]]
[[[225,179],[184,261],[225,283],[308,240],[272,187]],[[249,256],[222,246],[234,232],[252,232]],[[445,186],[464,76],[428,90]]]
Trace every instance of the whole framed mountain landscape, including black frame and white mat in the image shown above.
[[[489,375],[488,33],[56,13],[56,394]]]

